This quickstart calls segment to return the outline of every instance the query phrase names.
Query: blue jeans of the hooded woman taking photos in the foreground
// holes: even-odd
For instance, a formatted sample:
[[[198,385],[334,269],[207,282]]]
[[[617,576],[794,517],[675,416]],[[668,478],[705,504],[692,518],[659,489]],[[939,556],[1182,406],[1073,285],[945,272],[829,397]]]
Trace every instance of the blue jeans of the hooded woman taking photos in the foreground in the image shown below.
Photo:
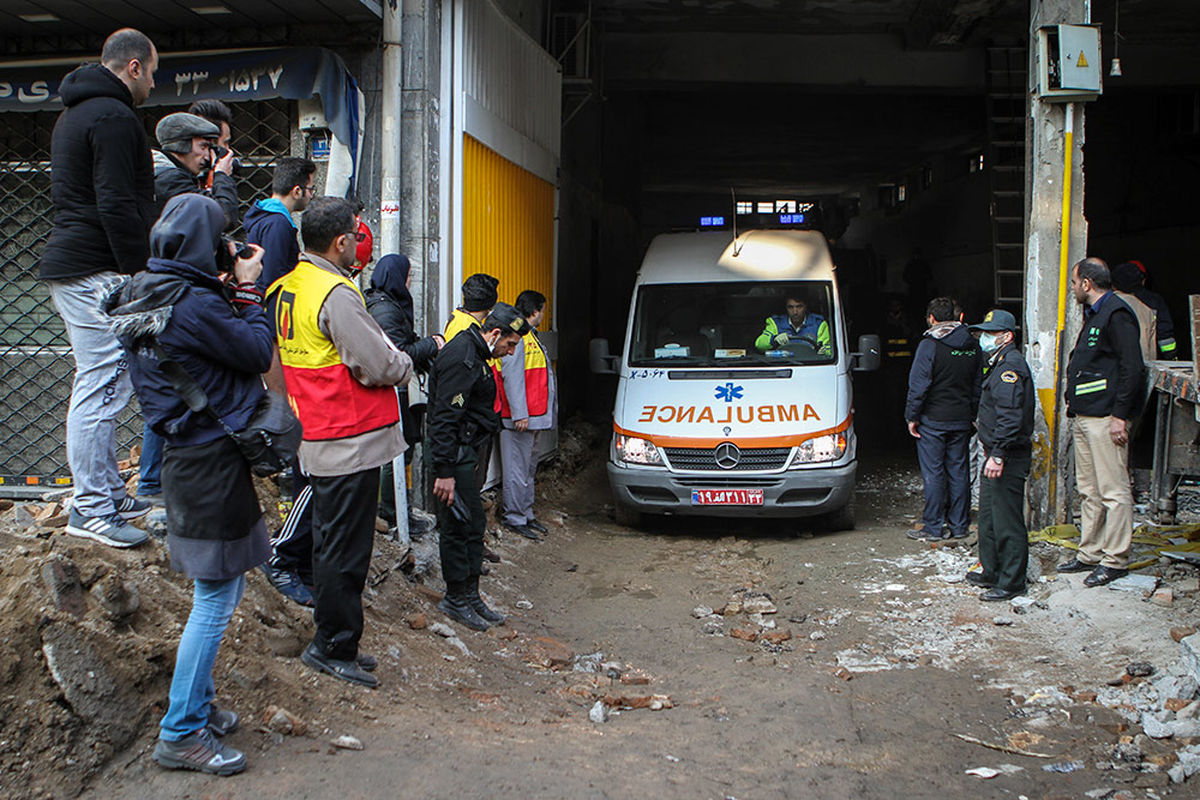
[[[175,675],[170,679],[170,706],[158,723],[158,738],[179,741],[209,722],[216,697],[212,664],[224,637],[233,609],[246,590],[246,576],[228,581],[196,581],[192,613],[175,652]]]

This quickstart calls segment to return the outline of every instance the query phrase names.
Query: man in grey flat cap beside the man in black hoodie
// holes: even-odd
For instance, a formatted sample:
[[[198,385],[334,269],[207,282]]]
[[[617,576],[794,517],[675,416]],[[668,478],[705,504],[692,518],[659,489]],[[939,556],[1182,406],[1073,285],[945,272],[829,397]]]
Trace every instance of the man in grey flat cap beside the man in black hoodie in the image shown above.
[[[176,194],[209,194],[221,206],[226,230],[238,219],[238,187],[233,181],[233,152],[223,158],[214,150],[221,128],[203,116],[180,112],[168,114],[155,127],[158,150],[154,152],[154,193],[158,212]],[[212,174],[209,190],[208,175]]]

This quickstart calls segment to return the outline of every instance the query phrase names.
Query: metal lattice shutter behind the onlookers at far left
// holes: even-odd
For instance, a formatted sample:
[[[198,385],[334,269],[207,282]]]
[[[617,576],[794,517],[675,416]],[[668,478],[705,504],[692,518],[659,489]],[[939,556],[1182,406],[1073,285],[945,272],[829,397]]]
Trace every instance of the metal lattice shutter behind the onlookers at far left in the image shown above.
[[[268,197],[278,156],[293,150],[295,104],[284,100],[230,106],[233,149],[245,209]],[[175,108],[148,109],[148,133]],[[0,114],[0,481],[70,483],[64,444],[74,361],[37,259],[50,234],[50,133],[56,113]],[[238,233],[240,234],[240,227]],[[137,402],[121,416],[118,452],[142,437]]]

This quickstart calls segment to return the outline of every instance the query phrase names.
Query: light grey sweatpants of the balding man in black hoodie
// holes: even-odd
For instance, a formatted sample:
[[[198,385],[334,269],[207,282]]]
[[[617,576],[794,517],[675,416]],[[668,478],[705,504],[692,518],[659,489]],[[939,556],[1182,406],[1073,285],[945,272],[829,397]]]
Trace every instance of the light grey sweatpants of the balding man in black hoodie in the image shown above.
[[[101,297],[120,281],[116,272],[47,281],[76,360],[67,462],[74,480],[72,506],[85,517],[115,513],[114,500],[125,497],[116,469],[116,417],[133,397],[133,383],[125,349],[100,311]]]

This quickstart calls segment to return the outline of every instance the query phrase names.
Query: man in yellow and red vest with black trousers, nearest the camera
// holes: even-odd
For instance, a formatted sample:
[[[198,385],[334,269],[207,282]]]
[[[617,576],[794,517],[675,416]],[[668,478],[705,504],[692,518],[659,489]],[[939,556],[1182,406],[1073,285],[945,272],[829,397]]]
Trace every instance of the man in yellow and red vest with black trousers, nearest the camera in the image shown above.
[[[312,487],[316,633],[310,667],[374,687],[359,652],[362,588],[374,543],[379,467],[404,451],[394,386],[412,360],[367,313],[354,275],[354,206],[319,197],[300,223],[305,252],[268,289],[288,399],[304,426],[300,467]]]

